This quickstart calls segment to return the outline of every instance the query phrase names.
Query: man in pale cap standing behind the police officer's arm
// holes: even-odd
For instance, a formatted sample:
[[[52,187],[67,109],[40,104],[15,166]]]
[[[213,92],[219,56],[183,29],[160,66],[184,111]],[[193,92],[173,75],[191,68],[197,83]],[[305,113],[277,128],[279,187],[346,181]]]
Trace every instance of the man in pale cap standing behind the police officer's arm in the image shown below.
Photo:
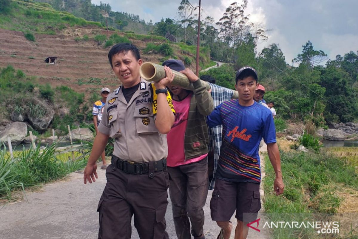
[[[98,125],[101,122],[103,109],[106,104],[107,96],[108,94],[110,94],[110,92],[111,92],[110,89],[108,89],[107,87],[103,87],[101,90],[102,99],[96,101],[95,104],[93,104],[92,115],[93,115],[93,124],[95,125],[95,129],[96,129],[96,134],[98,134]],[[101,169],[106,169],[107,163],[105,158],[105,151],[102,152],[101,158],[102,158]]]

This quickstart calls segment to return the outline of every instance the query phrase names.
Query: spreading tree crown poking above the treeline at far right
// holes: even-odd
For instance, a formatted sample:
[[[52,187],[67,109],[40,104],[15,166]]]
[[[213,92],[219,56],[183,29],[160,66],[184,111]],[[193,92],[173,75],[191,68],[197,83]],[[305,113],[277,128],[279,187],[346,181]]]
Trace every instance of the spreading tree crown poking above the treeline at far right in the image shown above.
[[[292,60],[292,63],[293,62],[305,63],[309,67],[313,68],[328,59],[327,54],[324,53],[324,51],[322,50],[319,51],[315,50],[310,41],[308,41],[302,47],[303,47],[302,54],[298,54],[297,57]]]

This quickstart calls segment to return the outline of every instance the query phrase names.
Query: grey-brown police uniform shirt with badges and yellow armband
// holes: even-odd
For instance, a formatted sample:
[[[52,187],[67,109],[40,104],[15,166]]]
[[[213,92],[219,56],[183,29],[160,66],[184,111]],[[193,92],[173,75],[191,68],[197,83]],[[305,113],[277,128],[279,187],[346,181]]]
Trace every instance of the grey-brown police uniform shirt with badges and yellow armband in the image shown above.
[[[154,84],[143,79],[128,103],[122,87],[107,96],[98,130],[115,139],[114,156],[138,163],[168,156],[166,134],[161,134],[155,126],[156,98]],[[170,94],[167,100],[175,113]]]

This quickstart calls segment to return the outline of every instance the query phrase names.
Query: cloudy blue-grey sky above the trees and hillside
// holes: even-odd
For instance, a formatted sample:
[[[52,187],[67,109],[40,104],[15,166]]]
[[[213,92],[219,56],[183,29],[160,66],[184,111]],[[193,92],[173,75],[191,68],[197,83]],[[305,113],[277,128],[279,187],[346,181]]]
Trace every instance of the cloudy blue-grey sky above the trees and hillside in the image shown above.
[[[178,19],[181,0],[102,0],[112,11],[124,11],[139,15],[153,23],[161,18]],[[199,0],[189,1],[198,6]],[[202,0],[203,17],[207,15],[217,22],[234,0]],[[242,0],[237,0],[240,4]],[[92,0],[99,5],[100,0]],[[301,53],[308,40],[316,50],[324,51],[330,59],[349,51],[358,51],[358,0],[248,0],[245,11],[250,21],[263,24],[269,39],[260,42],[257,51],[272,43],[279,44],[286,62]]]

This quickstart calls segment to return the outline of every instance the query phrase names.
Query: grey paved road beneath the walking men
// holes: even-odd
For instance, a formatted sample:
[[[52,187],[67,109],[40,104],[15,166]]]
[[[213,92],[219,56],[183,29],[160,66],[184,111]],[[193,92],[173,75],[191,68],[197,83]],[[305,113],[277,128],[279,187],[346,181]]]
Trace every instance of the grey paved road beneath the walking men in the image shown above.
[[[97,238],[98,213],[96,207],[106,184],[105,171],[98,170],[95,183],[83,185],[83,174],[71,173],[66,180],[43,186],[38,192],[27,193],[28,202],[0,206],[0,238],[6,239],[92,239]],[[168,193],[169,194],[169,193]],[[209,191],[205,204],[205,238],[215,239],[218,226],[210,217]],[[169,238],[176,238],[171,203],[165,219]],[[236,220],[232,218],[234,225]],[[132,225],[133,222],[132,222]],[[132,226],[132,238],[138,239]],[[266,238],[249,230],[248,238]],[[233,233],[232,237],[233,238]]]

